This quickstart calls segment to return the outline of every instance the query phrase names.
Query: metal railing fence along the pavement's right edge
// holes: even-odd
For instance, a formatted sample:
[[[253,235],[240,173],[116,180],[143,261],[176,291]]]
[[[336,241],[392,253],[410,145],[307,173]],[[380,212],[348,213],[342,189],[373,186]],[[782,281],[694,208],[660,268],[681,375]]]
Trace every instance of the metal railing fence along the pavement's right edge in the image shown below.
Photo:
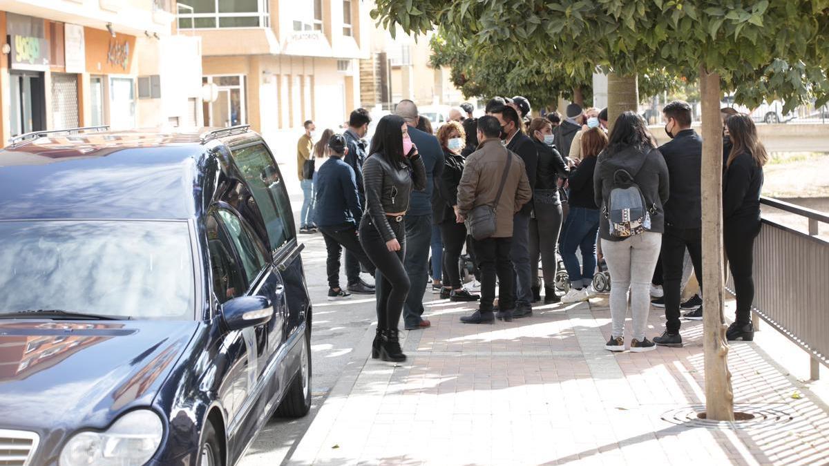
[[[754,315],[809,353],[817,380],[818,365],[829,366],[829,241],[817,237],[829,216],[768,197],[760,203],[808,219],[808,233],[763,219],[754,243]]]

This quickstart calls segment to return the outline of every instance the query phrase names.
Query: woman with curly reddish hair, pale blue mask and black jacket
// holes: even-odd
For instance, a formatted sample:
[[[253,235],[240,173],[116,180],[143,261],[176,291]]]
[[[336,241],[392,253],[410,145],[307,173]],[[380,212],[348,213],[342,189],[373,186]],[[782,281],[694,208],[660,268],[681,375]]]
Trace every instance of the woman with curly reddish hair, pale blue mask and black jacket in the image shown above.
[[[438,130],[438,141],[444,149],[444,172],[435,180],[437,192],[433,203],[432,217],[440,228],[440,238],[444,243],[443,271],[444,286],[440,291],[441,299],[450,301],[478,301],[481,297],[471,294],[461,286],[458,259],[466,242],[466,225],[458,222],[458,183],[463,175],[463,150],[466,134],[463,126],[456,121],[444,124]]]

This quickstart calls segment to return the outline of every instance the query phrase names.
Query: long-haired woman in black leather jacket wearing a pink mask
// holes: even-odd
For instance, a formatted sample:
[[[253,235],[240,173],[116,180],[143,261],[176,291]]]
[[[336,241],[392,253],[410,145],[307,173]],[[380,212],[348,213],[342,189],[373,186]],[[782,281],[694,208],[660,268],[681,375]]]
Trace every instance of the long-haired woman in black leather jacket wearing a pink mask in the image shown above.
[[[426,187],[426,169],[405,121],[397,115],[380,119],[369,153],[362,168],[366,212],[360,222],[360,243],[377,268],[377,336],[371,357],[401,362],[406,356],[400,349],[398,324],[410,288],[403,267],[404,217],[412,190]]]

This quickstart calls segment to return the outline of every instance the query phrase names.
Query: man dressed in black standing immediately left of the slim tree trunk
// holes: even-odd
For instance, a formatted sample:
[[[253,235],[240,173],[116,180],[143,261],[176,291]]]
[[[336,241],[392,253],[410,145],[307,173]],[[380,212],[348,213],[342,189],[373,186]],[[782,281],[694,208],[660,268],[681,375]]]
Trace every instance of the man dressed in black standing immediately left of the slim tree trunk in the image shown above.
[[[667,323],[665,333],[653,338],[653,342],[665,347],[681,347],[680,282],[686,248],[694,264],[696,280],[702,284],[702,138],[691,129],[691,105],[687,102],[674,100],[665,105],[662,119],[665,132],[672,139],[659,148],[671,180],[670,197],[665,204],[665,233],[662,235],[662,288],[665,290]],[[702,307],[684,317],[701,320]]]

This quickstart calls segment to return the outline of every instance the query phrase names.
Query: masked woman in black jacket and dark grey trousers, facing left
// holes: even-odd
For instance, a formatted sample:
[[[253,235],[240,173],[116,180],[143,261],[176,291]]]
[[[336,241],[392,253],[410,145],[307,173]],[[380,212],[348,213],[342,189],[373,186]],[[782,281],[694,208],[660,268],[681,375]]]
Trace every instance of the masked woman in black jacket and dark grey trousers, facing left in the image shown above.
[[[532,267],[533,301],[541,301],[541,284],[538,279],[538,258],[544,269],[544,303],[558,303],[555,294],[555,273],[558,260],[555,246],[561,231],[561,200],[559,177],[570,175],[558,149],[553,145],[553,125],[550,120],[536,118],[530,122],[527,133],[538,149],[536,187],[532,194],[533,211],[530,219],[530,264]],[[542,240],[543,239],[543,240]]]

